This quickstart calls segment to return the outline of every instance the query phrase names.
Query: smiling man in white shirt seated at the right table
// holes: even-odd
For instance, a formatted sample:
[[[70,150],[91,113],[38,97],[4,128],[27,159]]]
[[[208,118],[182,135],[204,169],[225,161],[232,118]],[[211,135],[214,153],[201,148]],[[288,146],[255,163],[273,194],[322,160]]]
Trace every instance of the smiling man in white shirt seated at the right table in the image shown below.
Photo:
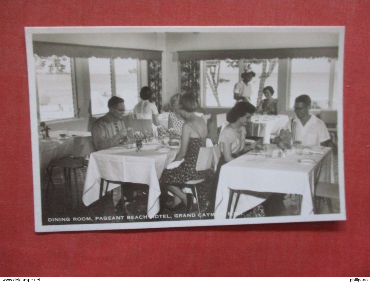
[[[294,142],[301,142],[303,146],[332,147],[329,131],[325,123],[315,115],[309,113],[311,98],[309,95],[300,95],[296,98],[294,112],[297,117],[286,125],[292,134]],[[280,138],[280,137],[277,137]],[[274,140],[276,142],[278,140]]]

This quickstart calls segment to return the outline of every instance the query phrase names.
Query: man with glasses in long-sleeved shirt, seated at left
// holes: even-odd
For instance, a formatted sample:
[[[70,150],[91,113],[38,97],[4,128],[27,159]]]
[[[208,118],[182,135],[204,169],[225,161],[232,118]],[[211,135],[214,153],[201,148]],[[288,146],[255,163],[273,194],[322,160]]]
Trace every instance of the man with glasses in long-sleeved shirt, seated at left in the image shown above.
[[[122,144],[127,136],[123,115],[125,101],[113,96],[108,101],[109,112],[98,118],[91,127],[92,143],[95,150],[104,150]]]

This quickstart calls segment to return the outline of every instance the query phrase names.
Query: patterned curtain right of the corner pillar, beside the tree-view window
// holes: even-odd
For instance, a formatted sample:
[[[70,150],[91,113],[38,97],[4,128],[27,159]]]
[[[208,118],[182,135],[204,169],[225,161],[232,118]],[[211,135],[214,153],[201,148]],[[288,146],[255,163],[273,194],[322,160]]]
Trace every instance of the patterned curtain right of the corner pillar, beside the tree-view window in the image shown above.
[[[181,61],[181,93],[194,95],[198,106],[201,105],[201,80],[200,80],[200,61]]]

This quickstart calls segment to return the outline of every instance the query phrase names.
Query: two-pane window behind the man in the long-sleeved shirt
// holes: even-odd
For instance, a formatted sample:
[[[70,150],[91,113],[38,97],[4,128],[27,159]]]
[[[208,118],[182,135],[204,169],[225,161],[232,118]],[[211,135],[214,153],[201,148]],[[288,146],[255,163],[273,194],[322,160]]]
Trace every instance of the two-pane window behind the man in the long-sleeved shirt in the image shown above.
[[[108,100],[118,96],[126,110],[138,103],[140,68],[137,59],[89,58],[91,113],[108,112]]]

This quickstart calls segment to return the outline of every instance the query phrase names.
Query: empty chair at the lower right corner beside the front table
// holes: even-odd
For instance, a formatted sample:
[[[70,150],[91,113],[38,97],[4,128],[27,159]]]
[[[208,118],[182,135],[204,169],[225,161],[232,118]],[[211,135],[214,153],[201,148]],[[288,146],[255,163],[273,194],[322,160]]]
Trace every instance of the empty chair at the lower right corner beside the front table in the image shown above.
[[[333,213],[332,199],[339,200],[339,185],[329,182],[318,182],[315,189],[316,212],[320,212],[320,205],[324,200],[327,203],[329,212]]]

